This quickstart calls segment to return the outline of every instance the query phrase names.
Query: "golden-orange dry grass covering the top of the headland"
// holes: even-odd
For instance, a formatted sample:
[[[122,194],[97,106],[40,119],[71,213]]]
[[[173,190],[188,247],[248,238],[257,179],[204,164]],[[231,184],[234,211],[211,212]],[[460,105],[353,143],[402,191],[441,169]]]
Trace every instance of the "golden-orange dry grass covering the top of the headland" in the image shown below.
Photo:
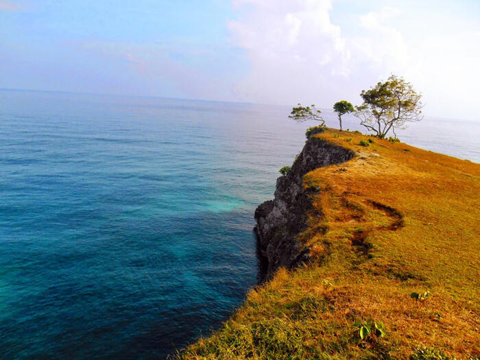
[[[356,153],[304,177],[320,191],[300,240],[322,263],[280,269],[180,357],[479,357],[480,165],[352,132],[317,136]],[[387,334],[361,341],[357,320],[379,320]]]

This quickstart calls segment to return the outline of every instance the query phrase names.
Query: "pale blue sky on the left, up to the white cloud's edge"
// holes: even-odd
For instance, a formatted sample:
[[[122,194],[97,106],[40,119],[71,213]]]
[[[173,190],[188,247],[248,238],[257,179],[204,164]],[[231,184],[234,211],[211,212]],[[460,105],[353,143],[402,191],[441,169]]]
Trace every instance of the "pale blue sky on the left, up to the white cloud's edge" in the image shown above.
[[[3,88],[202,97],[208,76],[233,82],[248,67],[228,44],[228,2],[3,4],[12,9],[0,10]]]

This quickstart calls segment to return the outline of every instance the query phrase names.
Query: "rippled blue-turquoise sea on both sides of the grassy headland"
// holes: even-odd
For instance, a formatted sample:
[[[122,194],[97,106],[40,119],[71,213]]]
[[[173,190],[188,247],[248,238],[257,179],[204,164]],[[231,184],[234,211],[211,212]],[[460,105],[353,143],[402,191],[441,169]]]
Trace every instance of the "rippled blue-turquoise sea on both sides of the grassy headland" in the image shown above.
[[[218,328],[259,280],[254,209],[313,125],[288,113],[0,91],[0,358],[163,359]],[[479,162],[479,130],[398,136]]]

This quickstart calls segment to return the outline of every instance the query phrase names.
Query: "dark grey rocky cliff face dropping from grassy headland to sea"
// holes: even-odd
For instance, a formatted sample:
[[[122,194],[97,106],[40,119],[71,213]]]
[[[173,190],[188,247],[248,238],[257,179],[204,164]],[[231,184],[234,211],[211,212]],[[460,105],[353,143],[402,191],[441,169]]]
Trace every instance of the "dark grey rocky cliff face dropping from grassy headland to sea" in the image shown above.
[[[318,167],[344,163],[353,155],[344,147],[310,137],[287,176],[277,179],[274,200],[256,208],[258,248],[266,262],[265,278],[279,267],[294,267],[309,259],[309,248],[296,237],[307,228],[310,197],[316,190],[304,189],[303,176]]]

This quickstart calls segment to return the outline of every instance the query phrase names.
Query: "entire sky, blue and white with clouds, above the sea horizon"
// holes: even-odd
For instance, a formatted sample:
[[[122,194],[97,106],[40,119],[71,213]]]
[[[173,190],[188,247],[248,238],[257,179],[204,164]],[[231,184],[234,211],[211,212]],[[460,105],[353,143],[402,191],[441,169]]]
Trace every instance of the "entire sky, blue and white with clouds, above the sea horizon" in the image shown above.
[[[0,0],[0,88],[331,108],[394,73],[480,121],[479,0]]]

